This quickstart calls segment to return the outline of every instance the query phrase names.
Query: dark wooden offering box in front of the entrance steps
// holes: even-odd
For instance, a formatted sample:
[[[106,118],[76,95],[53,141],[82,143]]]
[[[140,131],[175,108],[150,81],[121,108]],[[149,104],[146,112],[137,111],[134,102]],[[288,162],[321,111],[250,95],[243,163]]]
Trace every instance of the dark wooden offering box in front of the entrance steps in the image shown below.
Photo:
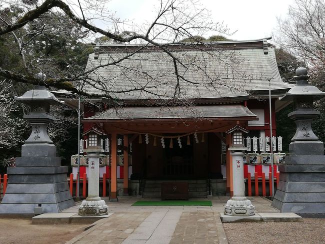
[[[162,200],[188,200],[188,183],[162,182]]]

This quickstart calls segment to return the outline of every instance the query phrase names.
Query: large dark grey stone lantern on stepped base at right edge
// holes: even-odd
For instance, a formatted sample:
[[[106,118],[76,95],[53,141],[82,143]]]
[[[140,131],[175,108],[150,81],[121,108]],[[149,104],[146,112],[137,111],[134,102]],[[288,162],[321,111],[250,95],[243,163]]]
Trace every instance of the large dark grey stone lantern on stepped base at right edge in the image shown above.
[[[306,68],[300,66],[295,74],[296,85],[280,100],[293,101],[294,111],[288,117],[294,120],[296,132],[285,165],[278,166],[280,180],[272,206],[281,212],[324,214],[324,145],[312,132],[311,122],[319,116],[313,102],[325,97],[325,92],[308,83]]]

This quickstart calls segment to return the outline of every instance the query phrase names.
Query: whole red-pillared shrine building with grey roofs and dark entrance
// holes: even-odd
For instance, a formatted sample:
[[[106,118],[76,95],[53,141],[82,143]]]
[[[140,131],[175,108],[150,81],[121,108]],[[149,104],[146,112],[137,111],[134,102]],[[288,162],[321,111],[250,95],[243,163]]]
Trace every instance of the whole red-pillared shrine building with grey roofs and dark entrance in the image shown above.
[[[252,157],[247,155],[245,170],[253,164],[270,170],[262,154],[270,152],[270,140],[274,153],[282,150],[275,112],[287,105],[278,98],[292,85],[281,80],[267,40],[165,49],[177,59],[155,46],[132,44],[96,45],[89,55],[86,71],[92,85],[82,89],[99,95],[111,92],[84,103],[83,131],[93,130],[101,138],[100,172],[109,174],[110,197],[157,197],[164,181],[189,182],[190,197],[231,194],[227,148],[234,134],[226,132],[236,126],[248,131],[244,141]],[[91,140],[82,138],[81,152]],[[254,155],[260,161],[254,161]],[[86,160],[82,162],[86,166]]]

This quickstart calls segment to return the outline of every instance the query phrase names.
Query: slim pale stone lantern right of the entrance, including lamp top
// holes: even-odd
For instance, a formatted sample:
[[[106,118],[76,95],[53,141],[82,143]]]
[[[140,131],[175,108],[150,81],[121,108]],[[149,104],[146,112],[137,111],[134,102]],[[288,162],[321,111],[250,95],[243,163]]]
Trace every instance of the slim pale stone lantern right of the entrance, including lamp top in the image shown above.
[[[228,150],[232,156],[233,196],[224,205],[224,214],[230,216],[251,216],[255,214],[255,207],[245,197],[243,177],[243,155],[246,150],[243,144],[243,133],[248,133],[248,131],[236,125],[226,133],[231,133],[232,137],[232,144]]]

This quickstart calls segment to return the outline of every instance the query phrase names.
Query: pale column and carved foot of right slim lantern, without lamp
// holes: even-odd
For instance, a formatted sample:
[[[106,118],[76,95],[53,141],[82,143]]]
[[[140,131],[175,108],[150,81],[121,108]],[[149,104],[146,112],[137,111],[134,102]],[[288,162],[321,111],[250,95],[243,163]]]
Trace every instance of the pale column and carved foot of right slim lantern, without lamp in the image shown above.
[[[244,148],[243,148],[244,149]],[[230,216],[251,216],[255,207],[245,197],[243,178],[243,151],[240,148],[229,148],[232,156],[233,196],[224,205],[224,214]]]

